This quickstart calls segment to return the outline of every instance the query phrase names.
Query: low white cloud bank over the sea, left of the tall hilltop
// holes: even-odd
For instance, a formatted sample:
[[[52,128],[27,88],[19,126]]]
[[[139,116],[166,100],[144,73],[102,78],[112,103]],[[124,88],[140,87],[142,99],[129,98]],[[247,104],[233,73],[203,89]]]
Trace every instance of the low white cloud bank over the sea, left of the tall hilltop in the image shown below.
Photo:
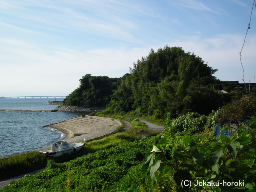
[[[78,51],[60,47],[38,47],[28,42],[0,38],[0,90],[17,91],[30,87],[40,92],[47,86],[52,92],[72,92],[85,74],[119,77],[129,72],[133,62],[149,48],[101,48]],[[56,78],[58,86],[56,87]],[[75,87],[74,87],[75,86]]]

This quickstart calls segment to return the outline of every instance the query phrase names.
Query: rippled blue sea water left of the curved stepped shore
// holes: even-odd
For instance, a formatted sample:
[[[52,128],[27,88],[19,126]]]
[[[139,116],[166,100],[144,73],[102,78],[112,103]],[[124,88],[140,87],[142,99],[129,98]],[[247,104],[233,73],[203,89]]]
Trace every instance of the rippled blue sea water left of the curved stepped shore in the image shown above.
[[[0,109],[53,110],[52,98],[6,98],[0,99]],[[0,111],[0,157],[22,153],[48,146],[63,133],[44,125],[56,123],[81,115],[65,112]]]

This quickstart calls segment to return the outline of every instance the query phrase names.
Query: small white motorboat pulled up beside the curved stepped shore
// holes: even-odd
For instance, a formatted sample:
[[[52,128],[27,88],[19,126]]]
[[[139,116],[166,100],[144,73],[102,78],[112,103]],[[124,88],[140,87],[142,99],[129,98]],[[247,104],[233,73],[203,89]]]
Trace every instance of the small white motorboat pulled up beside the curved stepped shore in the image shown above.
[[[84,144],[84,142],[68,144],[66,141],[58,140],[52,144],[52,149],[42,150],[40,153],[46,154],[48,157],[59,157],[64,154],[70,154],[82,149]]]

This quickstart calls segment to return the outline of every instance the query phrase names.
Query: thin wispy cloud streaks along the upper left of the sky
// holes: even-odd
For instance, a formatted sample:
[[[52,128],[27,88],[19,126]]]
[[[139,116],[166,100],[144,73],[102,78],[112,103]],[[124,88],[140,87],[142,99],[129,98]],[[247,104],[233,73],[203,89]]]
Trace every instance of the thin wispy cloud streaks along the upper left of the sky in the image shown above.
[[[150,14],[152,11],[147,6],[142,7],[137,4],[131,6],[118,1],[79,0],[70,4],[69,1],[58,3],[48,0],[40,2],[24,0],[5,3],[5,5],[0,12],[17,17],[21,19],[20,24],[26,24],[38,30],[59,31],[59,28],[62,28],[130,42],[140,42],[134,36],[134,32],[140,30],[138,23],[132,22],[131,18],[136,19],[134,14],[150,17],[156,15]],[[15,27],[14,24],[12,27]],[[19,27],[16,26],[16,28]]]

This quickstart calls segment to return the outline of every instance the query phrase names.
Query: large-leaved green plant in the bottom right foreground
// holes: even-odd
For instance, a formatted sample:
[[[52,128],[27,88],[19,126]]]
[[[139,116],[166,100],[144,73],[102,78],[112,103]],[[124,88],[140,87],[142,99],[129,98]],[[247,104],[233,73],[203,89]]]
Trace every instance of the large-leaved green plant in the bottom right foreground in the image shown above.
[[[160,191],[255,192],[256,117],[241,130],[208,146],[193,136],[165,135],[148,154],[144,176],[149,172]]]

